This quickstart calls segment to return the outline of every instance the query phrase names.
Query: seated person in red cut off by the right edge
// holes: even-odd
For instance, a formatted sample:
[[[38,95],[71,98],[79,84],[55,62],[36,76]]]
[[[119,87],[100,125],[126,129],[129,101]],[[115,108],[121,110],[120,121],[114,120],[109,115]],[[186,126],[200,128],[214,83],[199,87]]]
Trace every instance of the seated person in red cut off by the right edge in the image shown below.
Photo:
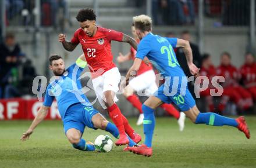
[[[245,62],[241,66],[240,72],[244,86],[256,101],[256,63],[253,54],[246,53]]]

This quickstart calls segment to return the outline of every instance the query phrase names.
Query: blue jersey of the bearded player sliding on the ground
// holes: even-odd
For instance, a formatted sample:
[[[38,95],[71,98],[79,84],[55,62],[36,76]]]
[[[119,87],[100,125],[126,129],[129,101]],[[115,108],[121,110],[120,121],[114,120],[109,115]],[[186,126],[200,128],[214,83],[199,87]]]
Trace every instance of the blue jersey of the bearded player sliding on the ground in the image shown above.
[[[81,82],[79,76],[84,68],[77,64],[71,65],[59,79],[49,83],[44,98],[44,105],[51,107],[52,101],[56,98],[60,115],[63,119],[67,108],[72,104],[82,103],[90,105],[90,101],[81,92]]]

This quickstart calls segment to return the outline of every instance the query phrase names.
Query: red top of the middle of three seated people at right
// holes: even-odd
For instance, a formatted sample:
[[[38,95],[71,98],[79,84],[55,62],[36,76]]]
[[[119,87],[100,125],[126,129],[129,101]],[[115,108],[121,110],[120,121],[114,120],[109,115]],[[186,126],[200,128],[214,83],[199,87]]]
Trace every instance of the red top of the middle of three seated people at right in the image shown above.
[[[225,83],[224,86],[237,86],[240,79],[240,73],[237,71],[237,68],[233,65],[219,65],[216,70],[217,75],[224,76]]]

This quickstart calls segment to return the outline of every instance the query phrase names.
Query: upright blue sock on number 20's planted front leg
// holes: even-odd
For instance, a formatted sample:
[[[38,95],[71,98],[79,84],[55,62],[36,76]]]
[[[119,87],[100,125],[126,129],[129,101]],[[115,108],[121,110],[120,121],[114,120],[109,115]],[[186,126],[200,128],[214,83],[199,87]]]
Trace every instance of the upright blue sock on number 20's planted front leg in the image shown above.
[[[147,147],[152,147],[152,137],[155,129],[154,109],[143,104],[142,110],[144,114],[144,120],[143,120],[143,129],[145,134],[144,144],[147,145]]]

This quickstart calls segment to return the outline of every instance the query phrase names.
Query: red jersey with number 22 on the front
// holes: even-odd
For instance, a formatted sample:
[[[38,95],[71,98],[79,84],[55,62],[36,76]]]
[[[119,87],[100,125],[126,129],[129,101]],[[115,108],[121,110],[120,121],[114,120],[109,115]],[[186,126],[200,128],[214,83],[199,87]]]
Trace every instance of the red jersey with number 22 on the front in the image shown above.
[[[122,41],[122,38],[122,32],[103,27],[98,27],[96,34],[92,37],[87,36],[86,32],[79,28],[74,32],[71,42],[81,44],[87,64],[90,65],[91,77],[94,79],[116,67],[113,63],[111,41]],[[96,71],[98,72],[95,73]]]

